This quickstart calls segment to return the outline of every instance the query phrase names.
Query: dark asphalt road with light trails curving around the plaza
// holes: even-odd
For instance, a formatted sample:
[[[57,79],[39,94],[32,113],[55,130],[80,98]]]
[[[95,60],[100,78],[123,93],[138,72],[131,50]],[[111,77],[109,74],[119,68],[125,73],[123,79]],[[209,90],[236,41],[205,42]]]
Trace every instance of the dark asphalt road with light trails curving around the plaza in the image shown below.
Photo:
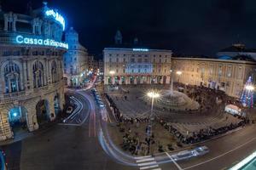
[[[106,150],[102,149],[97,135],[102,117],[93,98],[83,91],[74,95],[82,102],[83,109],[78,116],[84,120],[84,123],[81,126],[55,125],[48,131],[35,133],[32,137],[20,142],[2,146],[1,148],[7,153],[9,169],[140,169],[140,167],[130,167],[118,163],[113,156],[109,156],[109,153],[107,154]],[[145,169],[216,170],[231,167],[232,164],[256,150],[256,127],[255,125],[245,127],[236,133],[208,141],[203,145],[207,145],[210,149],[207,155],[186,161],[177,161],[179,168],[166,156],[166,160],[169,162],[160,164],[158,167],[148,166]],[[158,163],[157,158],[149,157],[147,159]]]

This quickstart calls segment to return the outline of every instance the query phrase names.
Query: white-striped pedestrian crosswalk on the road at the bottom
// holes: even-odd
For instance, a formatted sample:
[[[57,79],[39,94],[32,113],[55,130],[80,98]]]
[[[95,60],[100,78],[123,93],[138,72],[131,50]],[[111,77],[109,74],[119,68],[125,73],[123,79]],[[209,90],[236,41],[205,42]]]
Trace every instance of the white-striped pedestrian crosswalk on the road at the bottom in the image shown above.
[[[135,159],[140,170],[161,170],[153,156],[139,156]]]

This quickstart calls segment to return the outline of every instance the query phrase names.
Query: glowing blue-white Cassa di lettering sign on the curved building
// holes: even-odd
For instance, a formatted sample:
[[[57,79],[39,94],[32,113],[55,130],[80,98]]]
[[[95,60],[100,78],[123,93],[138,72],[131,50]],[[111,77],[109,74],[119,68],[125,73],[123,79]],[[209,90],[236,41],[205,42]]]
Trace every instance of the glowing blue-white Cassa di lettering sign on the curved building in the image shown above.
[[[32,45],[42,45],[42,46],[53,46],[55,48],[68,48],[68,44],[64,42],[56,42],[52,39],[42,39],[42,38],[32,38],[23,37],[21,35],[16,37],[17,43],[32,44]]]

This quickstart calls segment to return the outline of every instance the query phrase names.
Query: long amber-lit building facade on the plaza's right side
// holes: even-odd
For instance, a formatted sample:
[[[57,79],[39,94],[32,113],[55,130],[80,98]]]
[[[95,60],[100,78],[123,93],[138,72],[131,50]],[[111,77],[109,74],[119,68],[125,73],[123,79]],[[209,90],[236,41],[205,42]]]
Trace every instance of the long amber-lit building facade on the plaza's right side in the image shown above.
[[[175,82],[216,88],[239,98],[256,62],[235,59],[172,58],[172,69],[181,71]]]

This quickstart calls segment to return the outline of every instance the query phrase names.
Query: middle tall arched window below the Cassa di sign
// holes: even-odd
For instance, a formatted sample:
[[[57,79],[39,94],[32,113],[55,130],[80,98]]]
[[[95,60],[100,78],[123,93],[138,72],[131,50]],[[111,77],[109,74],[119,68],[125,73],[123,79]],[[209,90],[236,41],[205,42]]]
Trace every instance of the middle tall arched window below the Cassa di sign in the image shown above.
[[[44,86],[44,65],[40,61],[36,61],[33,65],[33,84],[34,88]]]

